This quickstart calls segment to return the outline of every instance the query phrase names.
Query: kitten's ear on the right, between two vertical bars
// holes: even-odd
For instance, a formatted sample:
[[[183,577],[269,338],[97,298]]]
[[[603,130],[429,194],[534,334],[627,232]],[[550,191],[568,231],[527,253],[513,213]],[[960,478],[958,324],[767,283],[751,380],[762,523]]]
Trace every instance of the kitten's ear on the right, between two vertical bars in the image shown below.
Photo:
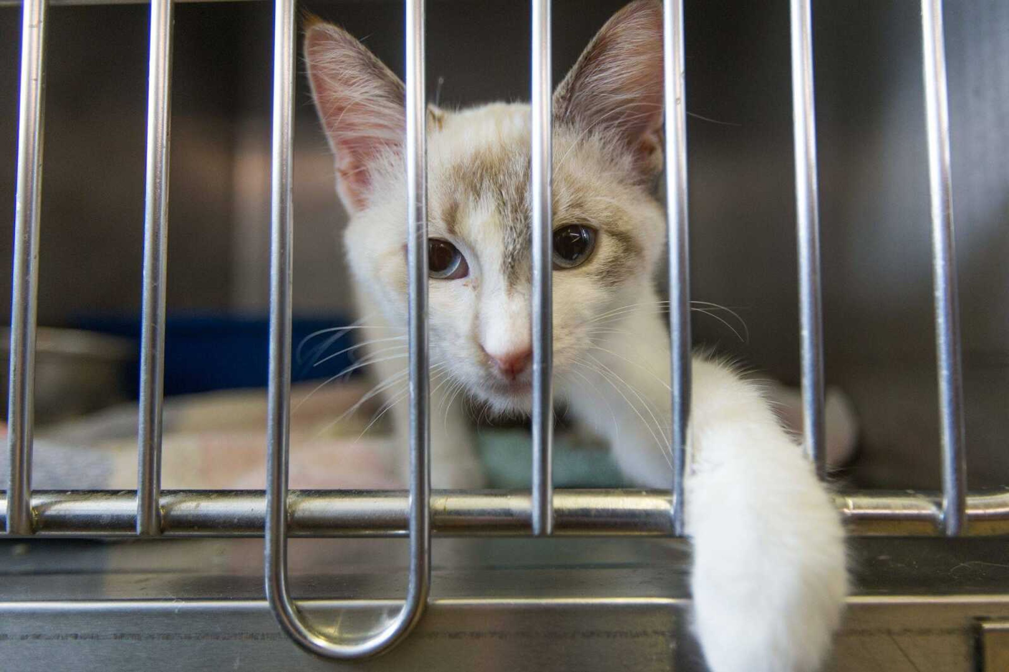
[[[643,177],[662,170],[662,5],[638,0],[596,33],[554,93],[554,119],[615,140]]]

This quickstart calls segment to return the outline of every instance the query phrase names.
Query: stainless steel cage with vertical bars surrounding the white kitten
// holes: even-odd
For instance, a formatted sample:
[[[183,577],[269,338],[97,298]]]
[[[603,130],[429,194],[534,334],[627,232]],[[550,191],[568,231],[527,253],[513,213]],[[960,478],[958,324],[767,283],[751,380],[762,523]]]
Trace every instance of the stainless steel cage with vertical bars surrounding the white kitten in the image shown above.
[[[299,6],[370,33],[385,63],[404,64],[423,116],[426,99],[531,88],[546,114],[551,81],[622,4],[538,1],[531,13],[504,0],[408,0],[406,20],[384,0]],[[667,70],[684,73],[666,84],[674,430],[685,427],[692,342],[800,384],[807,446],[822,440],[824,383],[843,388],[859,455],[831,478],[856,585],[830,669],[1009,669],[1009,5],[665,10]],[[422,320],[411,332],[413,489],[288,491],[299,325],[308,333],[349,311],[293,0],[0,0],[0,211],[15,213],[0,241],[12,258],[0,287],[12,297],[5,665],[704,669],[687,618],[688,545],[675,538],[682,479],[662,491],[554,490],[545,395],[528,484],[429,493]],[[423,136],[411,138],[416,159]],[[543,186],[549,135],[534,138]],[[410,225],[423,228],[421,165]],[[549,285],[539,288],[549,305]],[[691,296],[737,308],[749,339],[690,319]],[[293,314],[312,320],[292,328]],[[123,315],[139,340],[137,402],[102,420],[118,423],[117,437],[136,432],[138,474],[89,486],[98,451],[85,447],[107,441],[107,427],[35,431],[36,324],[122,337],[110,325]],[[185,331],[194,315],[231,320],[209,360],[194,358],[205,341],[176,339],[172,316]],[[234,422],[265,428],[268,480],[161,489],[161,460],[170,469],[193,454],[162,448],[162,428],[193,417],[162,393],[213,386],[173,378],[180,362],[226,377],[213,367],[238,338],[258,345],[232,368],[257,361],[259,373],[234,385],[269,388],[249,393],[255,404]],[[548,350],[538,345],[546,361]],[[234,408],[217,398],[202,412]],[[66,482],[47,487],[50,475]]]

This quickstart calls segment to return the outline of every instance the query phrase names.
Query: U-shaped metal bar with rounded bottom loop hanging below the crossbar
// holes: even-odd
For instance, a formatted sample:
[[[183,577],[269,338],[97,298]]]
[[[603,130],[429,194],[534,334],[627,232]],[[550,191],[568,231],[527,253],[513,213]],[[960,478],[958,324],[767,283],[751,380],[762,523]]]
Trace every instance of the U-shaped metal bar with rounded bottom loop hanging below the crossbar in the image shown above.
[[[334,659],[379,654],[417,624],[431,581],[431,476],[428,464],[427,187],[424,1],[407,2],[407,206],[410,275],[411,477],[407,497],[410,580],[399,612],[374,635],[323,632],[309,624],[288,587],[288,467],[291,397],[292,137],[295,2],[276,0],[273,36],[272,234],[270,258],[269,427],[265,511],[266,599],[282,628],[307,651]]]

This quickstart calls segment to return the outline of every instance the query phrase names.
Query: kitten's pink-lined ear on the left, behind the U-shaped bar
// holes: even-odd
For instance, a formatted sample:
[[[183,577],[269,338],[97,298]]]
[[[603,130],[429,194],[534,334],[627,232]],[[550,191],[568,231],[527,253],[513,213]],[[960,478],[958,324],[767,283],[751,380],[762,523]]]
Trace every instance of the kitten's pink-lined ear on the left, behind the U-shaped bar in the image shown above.
[[[351,212],[365,207],[375,170],[403,149],[403,82],[345,30],[309,17],[305,29],[312,99],[336,159],[336,186]]]

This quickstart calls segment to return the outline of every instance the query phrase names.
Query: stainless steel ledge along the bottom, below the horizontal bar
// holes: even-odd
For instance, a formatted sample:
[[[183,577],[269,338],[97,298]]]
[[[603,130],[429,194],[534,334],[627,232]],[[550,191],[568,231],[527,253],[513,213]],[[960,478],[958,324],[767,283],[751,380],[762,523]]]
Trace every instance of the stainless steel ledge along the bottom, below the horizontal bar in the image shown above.
[[[434,551],[432,602],[414,634],[385,656],[338,663],[277,628],[259,540],[8,541],[0,659],[25,672],[138,661],[152,672],[704,669],[688,636],[682,541],[455,539]],[[980,624],[1009,620],[1004,541],[861,539],[852,557],[857,588],[828,669],[979,669]],[[292,589],[313,618],[343,614],[352,630],[375,607],[398,608],[405,562],[403,541],[295,541]]]

